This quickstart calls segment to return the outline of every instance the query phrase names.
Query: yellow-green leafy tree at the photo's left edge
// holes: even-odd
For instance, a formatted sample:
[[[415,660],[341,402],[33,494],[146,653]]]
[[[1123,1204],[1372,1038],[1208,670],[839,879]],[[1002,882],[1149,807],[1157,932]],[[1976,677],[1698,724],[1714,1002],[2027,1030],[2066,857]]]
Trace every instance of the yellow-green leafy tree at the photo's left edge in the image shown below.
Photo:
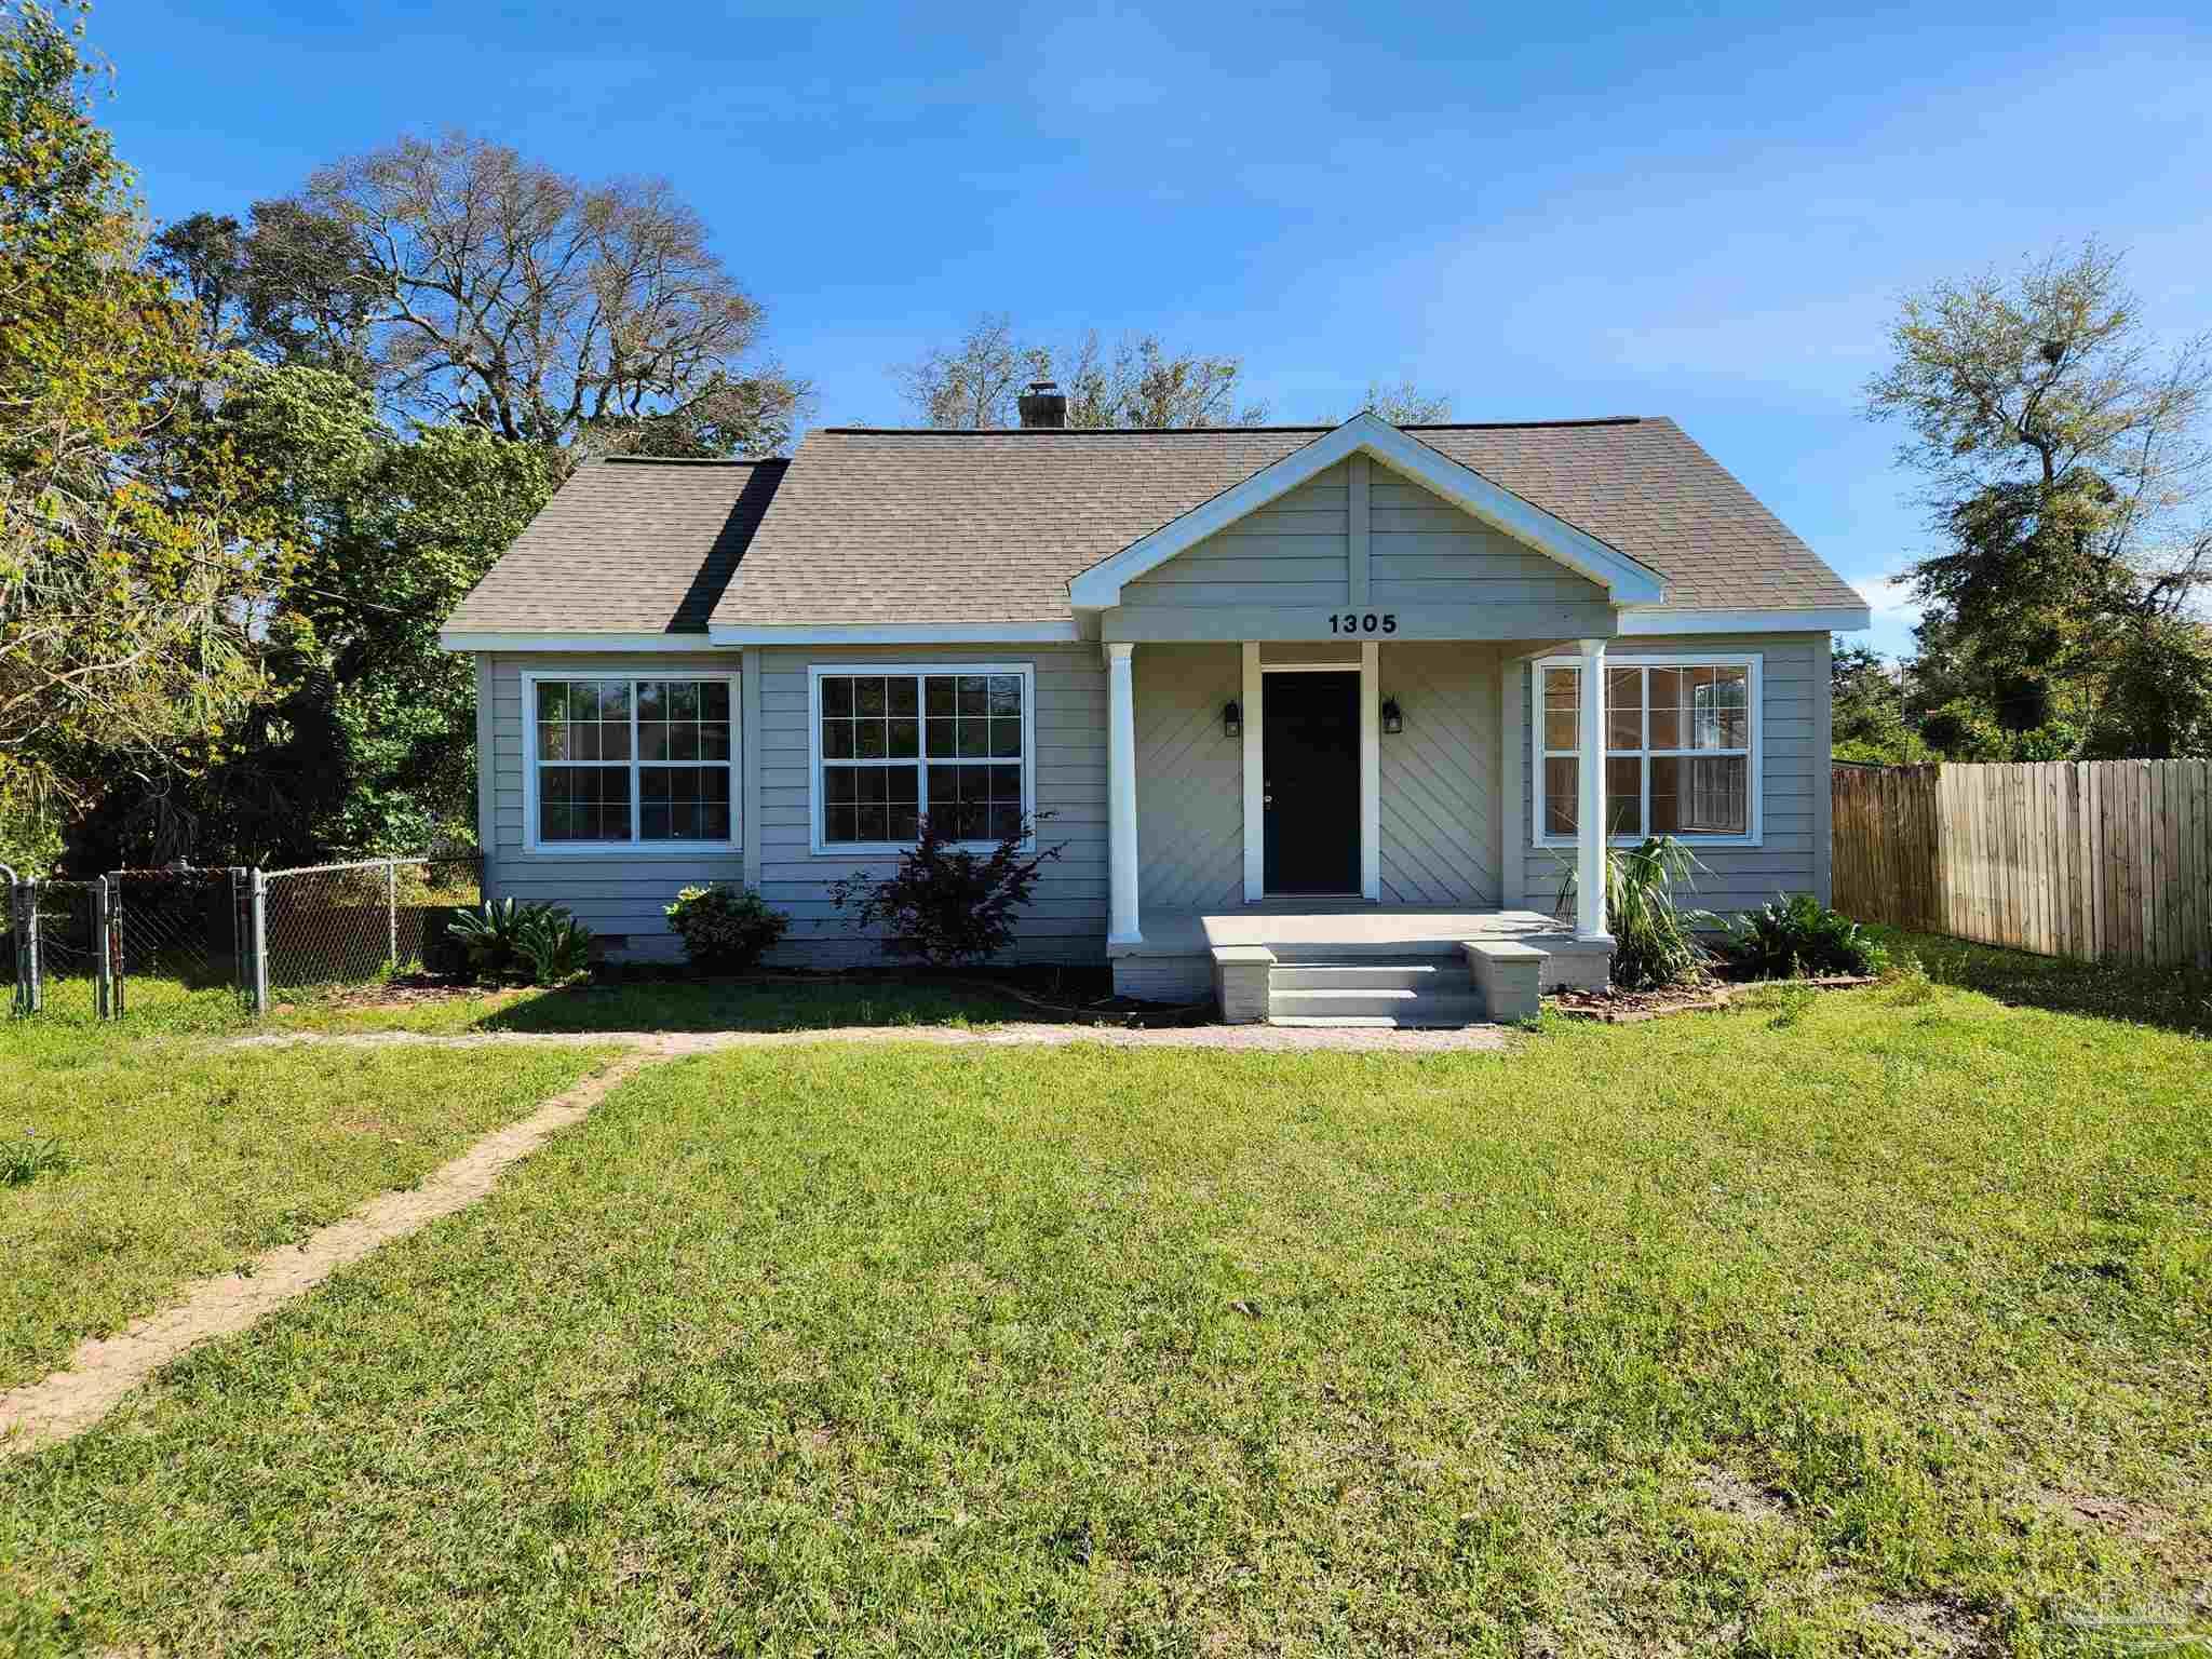
[[[285,564],[230,456],[204,451],[190,500],[168,476],[204,332],[139,263],[82,35],[82,15],[0,9],[0,818],[18,825],[82,803],[88,750],[142,774],[206,752],[263,686],[250,619]]]

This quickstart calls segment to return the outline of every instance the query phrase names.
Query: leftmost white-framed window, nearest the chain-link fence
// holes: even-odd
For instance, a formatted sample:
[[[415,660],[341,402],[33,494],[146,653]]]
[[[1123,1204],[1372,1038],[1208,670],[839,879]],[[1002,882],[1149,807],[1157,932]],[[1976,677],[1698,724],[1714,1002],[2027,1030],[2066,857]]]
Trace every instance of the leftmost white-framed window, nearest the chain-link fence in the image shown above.
[[[526,675],[529,847],[737,841],[728,675]]]

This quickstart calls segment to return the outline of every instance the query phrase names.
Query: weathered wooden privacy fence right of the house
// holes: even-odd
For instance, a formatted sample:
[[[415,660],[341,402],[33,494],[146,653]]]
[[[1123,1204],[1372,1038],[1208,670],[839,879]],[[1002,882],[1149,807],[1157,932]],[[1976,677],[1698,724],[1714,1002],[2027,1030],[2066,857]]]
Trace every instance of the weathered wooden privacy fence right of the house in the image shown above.
[[[1834,807],[1849,916],[2212,967],[2212,761],[1836,765]]]

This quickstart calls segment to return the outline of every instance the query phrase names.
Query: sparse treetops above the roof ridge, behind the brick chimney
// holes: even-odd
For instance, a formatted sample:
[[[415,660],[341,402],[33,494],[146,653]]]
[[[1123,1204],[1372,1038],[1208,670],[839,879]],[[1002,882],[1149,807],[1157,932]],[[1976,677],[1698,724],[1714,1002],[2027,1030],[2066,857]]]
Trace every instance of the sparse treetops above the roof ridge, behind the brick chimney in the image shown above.
[[[1022,341],[1004,312],[982,314],[953,345],[894,369],[925,425],[991,429],[1020,422],[1031,380],[1057,380],[1071,427],[1228,427],[1267,418],[1239,403],[1243,361],[1170,352],[1155,334],[1124,334],[1106,347],[1097,330],[1053,347]]]

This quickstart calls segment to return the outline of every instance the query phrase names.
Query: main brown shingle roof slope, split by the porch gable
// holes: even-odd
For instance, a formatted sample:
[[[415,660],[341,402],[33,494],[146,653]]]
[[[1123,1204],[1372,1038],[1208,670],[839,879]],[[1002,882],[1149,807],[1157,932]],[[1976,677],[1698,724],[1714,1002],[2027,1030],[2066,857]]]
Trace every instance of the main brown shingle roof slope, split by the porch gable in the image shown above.
[[[717,628],[1071,622],[1068,582],[1332,427],[807,436]],[[1666,580],[1670,606],[1863,606],[1672,420],[1405,427]]]

